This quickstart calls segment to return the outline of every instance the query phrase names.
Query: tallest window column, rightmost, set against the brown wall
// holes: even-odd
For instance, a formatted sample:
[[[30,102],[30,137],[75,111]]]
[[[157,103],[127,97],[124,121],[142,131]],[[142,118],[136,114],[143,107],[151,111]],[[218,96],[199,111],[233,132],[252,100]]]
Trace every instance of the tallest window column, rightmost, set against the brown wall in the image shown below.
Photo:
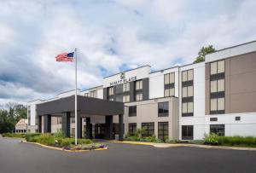
[[[224,113],[224,61],[212,62],[210,68],[210,114]]]

